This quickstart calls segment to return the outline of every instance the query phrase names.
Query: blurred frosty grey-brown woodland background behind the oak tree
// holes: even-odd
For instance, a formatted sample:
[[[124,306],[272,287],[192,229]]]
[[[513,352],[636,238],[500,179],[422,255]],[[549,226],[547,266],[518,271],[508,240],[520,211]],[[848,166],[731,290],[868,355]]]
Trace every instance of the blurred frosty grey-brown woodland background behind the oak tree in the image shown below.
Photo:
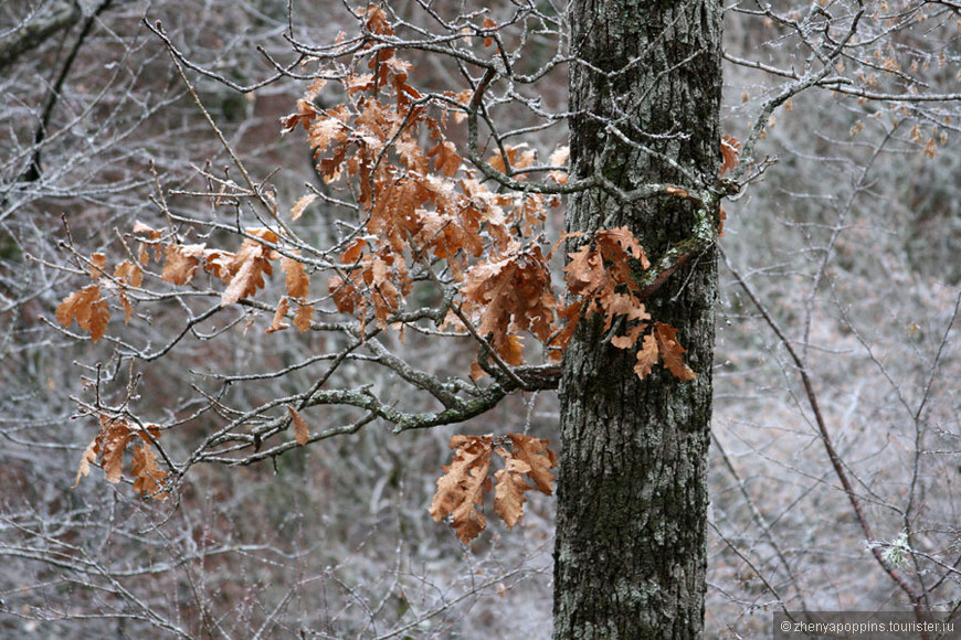
[[[197,465],[166,502],[97,470],[71,489],[96,430],[72,419],[71,396],[91,402],[99,375],[105,399],[123,399],[131,370],[106,341],[54,327],[80,281],[63,269],[67,247],[119,252],[134,221],[166,224],[163,206],[207,222],[243,211],[230,198],[218,210],[190,195],[242,178],[225,169],[224,146],[149,26],[162,22],[204,107],[286,213],[307,184],[336,193],[324,191],[303,138],[279,136],[308,84],[285,74],[313,71],[296,65],[298,46],[358,29],[340,3],[293,7],[292,18],[287,2],[267,0],[0,7],[2,637],[550,634],[549,499],[532,499],[514,531],[492,525],[469,546],[427,516],[454,427],[393,436],[371,425],[256,463]],[[394,9],[411,34],[457,23],[426,2]],[[515,14],[551,19],[501,35],[524,52],[519,64],[540,68],[564,46],[562,8],[513,3],[472,20]],[[959,21],[951,2],[727,6],[725,132],[756,141],[752,171],[763,171],[747,172],[750,184],[725,204],[708,637],[763,637],[781,608],[953,610],[961,598]],[[415,86],[466,88],[456,65],[411,55]],[[524,131],[507,140],[543,160],[564,138],[563,120],[538,111],[566,109],[559,72],[535,93],[511,87],[522,100],[501,87],[492,107],[504,130]],[[344,237],[337,215],[321,199],[297,233],[329,246]],[[553,210],[545,224],[560,230],[560,218]],[[168,344],[186,313],[168,301],[124,340]],[[292,330],[264,334],[266,311],[247,327],[257,312],[137,369],[138,410],[180,420],[210,402],[191,384],[230,387],[229,409],[256,407],[309,378],[296,367],[237,376],[342,349]],[[215,332],[235,337],[230,349],[204,338]],[[457,375],[458,359],[469,364],[469,350],[406,338],[389,346],[424,370]],[[401,388],[360,364],[358,384]],[[356,419],[338,410],[315,428]],[[557,441],[557,410],[552,394],[517,393],[456,431]],[[189,456],[220,428],[209,415],[184,420],[165,445]]]

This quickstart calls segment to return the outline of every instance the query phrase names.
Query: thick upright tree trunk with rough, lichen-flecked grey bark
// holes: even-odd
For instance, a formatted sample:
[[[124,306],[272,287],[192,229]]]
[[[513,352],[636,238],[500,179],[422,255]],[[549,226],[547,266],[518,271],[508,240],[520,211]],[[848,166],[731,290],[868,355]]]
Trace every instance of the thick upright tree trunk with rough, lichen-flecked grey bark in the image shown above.
[[[721,3],[572,0],[571,167],[624,190],[717,177]],[[614,124],[635,145],[605,130]],[[683,169],[683,170],[682,170]],[[693,183],[695,177],[701,184]],[[652,262],[690,236],[693,207],[570,199],[569,232],[627,225]],[[577,244],[582,238],[571,241]],[[640,381],[632,353],[583,321],[561,378],[555,638],[698,638],[704,629],[716,254],[689,256],[646,300],[679,330],[697,380],[661,366]]]

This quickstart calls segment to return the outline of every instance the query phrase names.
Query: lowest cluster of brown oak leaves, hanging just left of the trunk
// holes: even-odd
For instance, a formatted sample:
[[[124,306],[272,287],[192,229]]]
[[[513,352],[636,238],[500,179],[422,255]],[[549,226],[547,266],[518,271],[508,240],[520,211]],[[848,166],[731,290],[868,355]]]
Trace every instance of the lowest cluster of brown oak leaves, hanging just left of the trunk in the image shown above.
[[[451,518],[451,526],[463,543],[477,537],[487,526],[484,518],[484,495],[494,488],[494,512],[507,526],[514,527],[524,515],[524,493],[536,489],[551,494],[557,456],[548,449],[548,441],[522,434],[505,437],[454,436],[451,463],[441,467],[444,474],[437,479],[437,492],[431,502],[431,516],[440,522]],[[505,467],[488,471],[493,454],[505,459]],[[534,484],[528,484],[530,479]]]

